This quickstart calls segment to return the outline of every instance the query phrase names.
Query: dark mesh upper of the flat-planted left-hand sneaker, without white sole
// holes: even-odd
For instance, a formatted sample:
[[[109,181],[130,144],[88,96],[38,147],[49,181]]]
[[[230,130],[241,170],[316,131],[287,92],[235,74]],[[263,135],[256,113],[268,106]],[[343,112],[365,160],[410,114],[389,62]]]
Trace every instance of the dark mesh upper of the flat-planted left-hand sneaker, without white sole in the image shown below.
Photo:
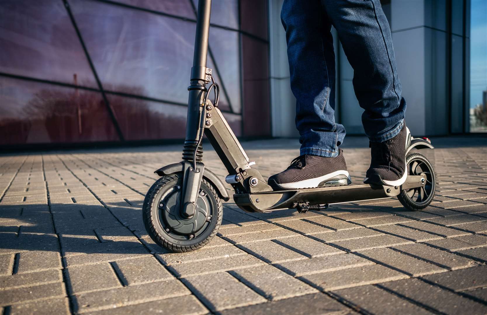
[[[269,184],[272,182],[277,184],[299,182],[346,170],[347,165],[341,149],[339,149],[337,157],[319,157],[305,154],[295,158],[286,170],[269,177],[268,182]]]

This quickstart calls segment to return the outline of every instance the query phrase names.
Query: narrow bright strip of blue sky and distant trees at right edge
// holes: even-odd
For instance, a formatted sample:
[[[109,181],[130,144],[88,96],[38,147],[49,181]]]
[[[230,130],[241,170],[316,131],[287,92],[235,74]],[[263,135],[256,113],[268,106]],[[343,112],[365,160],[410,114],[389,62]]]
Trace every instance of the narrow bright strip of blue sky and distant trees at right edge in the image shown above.
[[[487,1],[470,11],[470,131],[487,131]]]

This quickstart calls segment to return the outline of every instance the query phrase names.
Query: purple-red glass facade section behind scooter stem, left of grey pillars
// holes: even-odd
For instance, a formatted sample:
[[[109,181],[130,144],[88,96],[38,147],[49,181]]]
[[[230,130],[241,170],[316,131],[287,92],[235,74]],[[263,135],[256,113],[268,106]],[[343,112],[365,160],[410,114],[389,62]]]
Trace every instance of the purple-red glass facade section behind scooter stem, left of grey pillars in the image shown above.
[[[183,139],[197,5],[1,0],[0,145]],[[208,67],[237,136],[271,135],[268,51],[266,1],[213,1]]]

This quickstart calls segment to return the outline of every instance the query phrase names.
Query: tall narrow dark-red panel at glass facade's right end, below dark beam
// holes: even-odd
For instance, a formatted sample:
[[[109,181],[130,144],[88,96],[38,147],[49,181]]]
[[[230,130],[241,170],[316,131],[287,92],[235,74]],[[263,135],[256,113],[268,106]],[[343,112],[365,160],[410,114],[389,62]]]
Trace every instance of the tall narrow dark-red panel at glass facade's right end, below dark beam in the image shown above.
[[[269,136],[270,92],[268,45],[242,35],[244,136]]]

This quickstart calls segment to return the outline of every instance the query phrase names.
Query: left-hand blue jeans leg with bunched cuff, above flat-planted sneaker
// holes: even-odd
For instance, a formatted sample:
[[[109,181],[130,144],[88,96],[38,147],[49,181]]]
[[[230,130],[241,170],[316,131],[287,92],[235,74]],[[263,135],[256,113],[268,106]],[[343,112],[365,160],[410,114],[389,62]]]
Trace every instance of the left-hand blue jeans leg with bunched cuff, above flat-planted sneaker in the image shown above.
[[[335,53],[331,22],[319,0],[284,0],[291,90],[300,154],[336,157],[345,128],[335,122]]]

